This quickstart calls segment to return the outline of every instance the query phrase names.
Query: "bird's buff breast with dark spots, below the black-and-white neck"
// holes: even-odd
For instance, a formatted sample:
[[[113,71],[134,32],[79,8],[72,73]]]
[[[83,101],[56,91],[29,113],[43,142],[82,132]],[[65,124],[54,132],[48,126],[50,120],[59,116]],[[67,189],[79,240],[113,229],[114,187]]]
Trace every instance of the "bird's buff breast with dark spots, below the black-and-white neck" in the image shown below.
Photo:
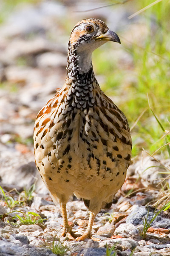
[[[71,96],[68,93],[65,99],[68,95]],[[108,184],[116,182],[121,175],[122,184],[129,164],[130,145],[117,139],[122,136],[121,128],[116,128],[118,123],[114,126],[111,117],[107,118],[96,101],[93,107],[83,110],[68,104],[69,100],[58,99],[58,102],[55,108],[56,102],[54,105],[50,102],[47,110],[43,110],[47,114],[37,119],[40,128],[34,133],[34,148],[41,172],[47,172],[56,182],[63,179],[70,181],[69,184],[79,180],[82,184],[87,179]]]

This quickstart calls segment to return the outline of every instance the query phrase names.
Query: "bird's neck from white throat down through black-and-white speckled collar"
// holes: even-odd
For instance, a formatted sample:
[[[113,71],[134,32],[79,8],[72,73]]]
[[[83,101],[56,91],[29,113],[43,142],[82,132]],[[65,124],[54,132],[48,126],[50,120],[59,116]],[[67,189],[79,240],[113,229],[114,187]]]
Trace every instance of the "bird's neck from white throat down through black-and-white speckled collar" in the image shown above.
[[[97,84],[94,76],[90,52],[81,52],[68,48],[67,76],[72,80],[67,95],[67,103],[74,108],[85,110],[93,108],[95,104],[94,85]]]

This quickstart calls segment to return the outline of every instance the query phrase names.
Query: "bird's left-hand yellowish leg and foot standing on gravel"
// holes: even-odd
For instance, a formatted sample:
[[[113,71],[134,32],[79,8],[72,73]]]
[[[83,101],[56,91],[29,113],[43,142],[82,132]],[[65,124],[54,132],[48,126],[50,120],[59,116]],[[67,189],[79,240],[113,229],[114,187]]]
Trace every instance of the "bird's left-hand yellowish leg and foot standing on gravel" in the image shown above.
[[[63,219],[63,231],[61,236],[67,236],[70,240],[74,240],[77,236],[72,231],[72,228],[68,225],[66,204],[61,203],[62,219]]]

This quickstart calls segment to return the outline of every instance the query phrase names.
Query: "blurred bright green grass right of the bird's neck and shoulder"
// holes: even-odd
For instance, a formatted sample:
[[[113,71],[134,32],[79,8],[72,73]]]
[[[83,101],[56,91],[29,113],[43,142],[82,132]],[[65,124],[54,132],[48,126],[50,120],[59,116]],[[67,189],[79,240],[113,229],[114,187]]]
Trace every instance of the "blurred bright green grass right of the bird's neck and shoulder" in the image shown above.
[[[136,10],[140,10],[153,0],[132,1],[136,3]],[[139,25],[144,24],[146,37],[140,42],[131,43],[121,38],[122,31],[117,32],[122,41],[122,47],[127,51],[132,64],[120,65],[119,58],[111,57],[111,45],[94,52],[94,66],[96,74],[104,74],[103,91],[116,99],[116,104],[125,113],[132,130],[133,156],[144,148],[150,154],[165,144],[164,132],[149,109],[148,98],[154,113],[165,130],[170,130],[170,4],[163,0],[143,11]],[[134,23],[138,23],[137,18]],[[139,27],[140,30],[140,27]],[[115,46],[116,47],[116,46]],[[118,48],[116,48],[118,49]],[[108,52],[108,54],[106,54]],[[107,56],[105,56],[107,55]],[[133,77],[132,81],[130,81]],[[135,79],[134,79],[135,78]],[[161,148],[158,153],[169,157],[167,148]]]

